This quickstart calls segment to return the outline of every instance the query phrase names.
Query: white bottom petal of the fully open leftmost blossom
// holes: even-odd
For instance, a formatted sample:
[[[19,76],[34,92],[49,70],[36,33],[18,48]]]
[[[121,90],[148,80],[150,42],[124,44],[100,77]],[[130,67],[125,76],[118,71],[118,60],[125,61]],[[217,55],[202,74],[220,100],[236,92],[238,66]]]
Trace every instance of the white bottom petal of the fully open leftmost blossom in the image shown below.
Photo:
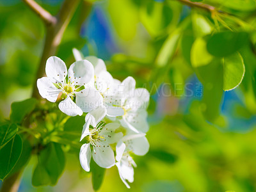
[[[62,100],[59,104],[59,108],[63,113],[69,116],[83,115],[82,109],[79,108],[70,97]]]

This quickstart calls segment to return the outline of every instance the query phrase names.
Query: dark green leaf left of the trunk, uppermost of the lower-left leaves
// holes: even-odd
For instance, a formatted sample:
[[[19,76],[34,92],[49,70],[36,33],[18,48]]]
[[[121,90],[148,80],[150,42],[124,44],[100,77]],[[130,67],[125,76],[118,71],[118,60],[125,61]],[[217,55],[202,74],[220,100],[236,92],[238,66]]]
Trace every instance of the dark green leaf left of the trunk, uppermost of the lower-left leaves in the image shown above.
[[[13,102],[11,106],[10,120],[15,123],[21,123],[23,118],[35,109],[37,102],[38,100],[35,98]]]

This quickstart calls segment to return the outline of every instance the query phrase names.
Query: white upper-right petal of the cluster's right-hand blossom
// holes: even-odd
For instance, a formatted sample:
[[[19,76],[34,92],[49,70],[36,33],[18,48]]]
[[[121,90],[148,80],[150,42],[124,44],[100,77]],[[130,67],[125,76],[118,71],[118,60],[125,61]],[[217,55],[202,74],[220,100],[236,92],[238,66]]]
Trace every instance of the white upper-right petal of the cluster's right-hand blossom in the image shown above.
[[[136,111],[137,109],[147,109],[147,104],[150,94],[145,88],[137,88],[134,91],[134,96],[129,97],[125,108]]]

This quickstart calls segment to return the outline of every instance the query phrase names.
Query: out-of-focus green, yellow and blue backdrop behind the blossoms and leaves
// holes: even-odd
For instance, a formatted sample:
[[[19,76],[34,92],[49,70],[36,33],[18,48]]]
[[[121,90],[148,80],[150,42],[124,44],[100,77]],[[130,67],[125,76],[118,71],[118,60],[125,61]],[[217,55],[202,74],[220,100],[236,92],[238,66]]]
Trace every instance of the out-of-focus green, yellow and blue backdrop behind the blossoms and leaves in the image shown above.
[[[62,1],[37,2],[54,15]],[[79,4],[56,56],[67,65],[74,61],[73,47],[84,56],[98,56],[106,61],[113,77],[123,80],[133,76],[137,87],[147,88],[152,96],[147,133],[150,150],[134,159],[138,168],[131,189],[125,188],[113,167],[106,171],[100,191],[256,191],[255,71],[247,68],[240,86],[223,91],[220,100],[211,95],[218,117],[209,121],[203,114],[207,108],[202,102],[204,84],[189,61],[194,37],[200,33],[191,22],[198,15],[209,22],[212,31],[256,27],[255,1],[225,2],[203,1],[235,15],[243,24],[227,20],[216,24],[209,11],[172,0]],[[181,30],[184,20],[188,24]],[[199,26],[204,28],[204,22]],[[173,33],[178,34],[177,40],[169,42],[168,53],[163,53]],[[8,118],[13,101],[31,97],[44,35],[44,24],[24,3],[0,1],[0,119]],[[167,58],[164,65],[158,62],[161,58]],[[255,68],[255,52],[246,58],[244,62]],[[36,158],[32,157],[19,191],[93,191],[90,173],[81,168],[77,154],[66,158],[65,172],[56,186],[35,188],[31,174]]]

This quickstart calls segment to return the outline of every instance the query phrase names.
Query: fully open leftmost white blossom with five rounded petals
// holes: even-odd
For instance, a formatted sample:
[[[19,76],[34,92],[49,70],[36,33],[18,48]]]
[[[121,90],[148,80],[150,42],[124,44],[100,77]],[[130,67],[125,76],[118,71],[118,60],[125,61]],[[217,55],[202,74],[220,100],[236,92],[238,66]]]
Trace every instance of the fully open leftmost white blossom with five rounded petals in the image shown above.
[[[77,102],[77,100],[87,99],[89,95],[90,106],[94,108],[100,103],[100,94],[93,88],[94,69],[90,61],[76,61],[67,71],[65,63],[60,58],[52,56],[46,61],[45,72],[47,77],[37,80],[38,91],[50,102],[56,102],[58,95],[62,93],[66,97],[59,104],[63,113],[76,116],[92,109],[88,106],[83,108],[77,106],[73,101],[74,98]]]

